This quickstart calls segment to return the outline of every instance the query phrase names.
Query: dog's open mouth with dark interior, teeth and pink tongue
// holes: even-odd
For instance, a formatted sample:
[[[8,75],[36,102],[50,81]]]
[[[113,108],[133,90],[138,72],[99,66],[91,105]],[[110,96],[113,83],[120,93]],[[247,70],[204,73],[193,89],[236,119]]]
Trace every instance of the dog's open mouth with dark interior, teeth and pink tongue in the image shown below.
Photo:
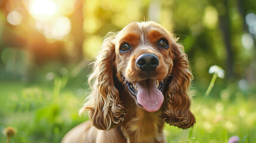
[[[164,81],[147,79],[137,83],[128,82],[127,86],[131,95],[137,98],[138,104],[146,111],[153,112],[161,108],[164,102]]]

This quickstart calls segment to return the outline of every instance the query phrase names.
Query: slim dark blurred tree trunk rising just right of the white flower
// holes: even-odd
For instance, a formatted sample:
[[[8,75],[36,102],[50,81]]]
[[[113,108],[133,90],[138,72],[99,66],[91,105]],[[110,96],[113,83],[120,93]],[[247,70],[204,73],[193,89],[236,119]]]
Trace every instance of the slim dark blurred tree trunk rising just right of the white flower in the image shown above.
[[[220,30],[223,33],[224,43],[227,51],[227,59],[226,59],[226,75],[227,79],[235,77],[235,73],[233,71],[233,51],[232,45],[230,42],[230,18],[229,18],[229,8],[227,5],[227,0],[224,1],[224,7],[226,8],[226,13],[224,15],[220,15]]]

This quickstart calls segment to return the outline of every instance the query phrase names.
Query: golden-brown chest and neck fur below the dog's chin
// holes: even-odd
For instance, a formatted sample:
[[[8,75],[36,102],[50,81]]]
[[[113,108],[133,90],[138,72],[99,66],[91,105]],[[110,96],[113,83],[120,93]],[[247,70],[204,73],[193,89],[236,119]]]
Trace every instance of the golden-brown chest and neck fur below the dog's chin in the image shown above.
[[[161,111],[147,112],[138,107],[128,93],[124,97],[125,107],[128,108],[127,117],[121,125],[127,142],[165,142],[164,120],[160,117]]]

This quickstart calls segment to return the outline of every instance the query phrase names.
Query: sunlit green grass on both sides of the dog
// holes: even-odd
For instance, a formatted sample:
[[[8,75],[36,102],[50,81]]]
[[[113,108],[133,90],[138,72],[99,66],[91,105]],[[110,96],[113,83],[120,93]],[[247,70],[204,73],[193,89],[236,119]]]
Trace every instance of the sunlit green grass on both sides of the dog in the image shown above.
[[[88,120],[78,116],[88,87],[67,79],[35,84],[0,82],[0,130],[7,126],[17,129],[10,142],[60,142],[68,130]],[[204,93],[199,89],[192,90],[195,126],[183,130],[165,125],[167,142],[227,142],[233,135],[240,142],[245,136],[243,142],[256,141],[255,93],[216,88],[221,92],[213,89],[212,94],[220,95],[210,94],[202,100]],[[6,139],[1,133],[0,142]]]

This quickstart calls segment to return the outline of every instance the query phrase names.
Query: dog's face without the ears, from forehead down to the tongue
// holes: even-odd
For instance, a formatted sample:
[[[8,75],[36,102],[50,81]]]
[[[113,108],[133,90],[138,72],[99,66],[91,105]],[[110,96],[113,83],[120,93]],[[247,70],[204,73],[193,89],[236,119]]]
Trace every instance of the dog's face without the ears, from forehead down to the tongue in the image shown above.
[[[115,39],[117,76],[146,111],[157,111],[164,102],[166,77],[171,73],[171,35],[153,22],[131,23]]]

